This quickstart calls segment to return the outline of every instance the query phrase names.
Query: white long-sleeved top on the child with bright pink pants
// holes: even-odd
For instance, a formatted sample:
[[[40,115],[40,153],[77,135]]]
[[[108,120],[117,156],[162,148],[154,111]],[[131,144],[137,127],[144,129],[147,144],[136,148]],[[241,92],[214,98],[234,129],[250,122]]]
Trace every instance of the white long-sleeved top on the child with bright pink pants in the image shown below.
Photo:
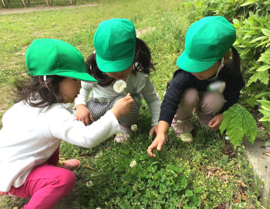
[[[65,108],[53,104],[49,109],[14,104],[4,114],[0,130],[0,191],[20,187],[34,166],[47,161],[61,140],[81,147],[95,147],[120,132],[114,114],[84,126]]]

